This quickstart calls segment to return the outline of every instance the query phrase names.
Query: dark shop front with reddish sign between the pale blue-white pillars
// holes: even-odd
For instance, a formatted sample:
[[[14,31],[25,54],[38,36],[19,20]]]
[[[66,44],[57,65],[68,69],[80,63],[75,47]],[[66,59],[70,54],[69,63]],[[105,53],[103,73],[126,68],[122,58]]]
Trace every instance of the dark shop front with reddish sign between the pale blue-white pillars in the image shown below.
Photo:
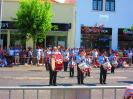
[[[109,49],[112,41],[112,28],[81,26],[81,47]]]

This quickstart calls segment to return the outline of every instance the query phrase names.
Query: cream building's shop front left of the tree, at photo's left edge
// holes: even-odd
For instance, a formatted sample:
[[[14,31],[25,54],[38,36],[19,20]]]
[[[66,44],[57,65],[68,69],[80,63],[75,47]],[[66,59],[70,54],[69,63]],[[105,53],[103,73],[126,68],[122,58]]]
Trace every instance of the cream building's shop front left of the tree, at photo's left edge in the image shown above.
[[[26,46],[26,37],[16,29],[13,21],[2,21],[0,39],[3,48],[15,45]]]

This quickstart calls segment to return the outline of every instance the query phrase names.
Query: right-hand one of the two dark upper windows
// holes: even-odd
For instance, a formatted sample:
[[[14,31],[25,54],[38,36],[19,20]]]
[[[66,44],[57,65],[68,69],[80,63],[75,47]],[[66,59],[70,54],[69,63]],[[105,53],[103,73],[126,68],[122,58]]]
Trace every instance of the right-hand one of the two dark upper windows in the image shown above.
[[[115,11],[115,0],[106,0],[106,11]]]

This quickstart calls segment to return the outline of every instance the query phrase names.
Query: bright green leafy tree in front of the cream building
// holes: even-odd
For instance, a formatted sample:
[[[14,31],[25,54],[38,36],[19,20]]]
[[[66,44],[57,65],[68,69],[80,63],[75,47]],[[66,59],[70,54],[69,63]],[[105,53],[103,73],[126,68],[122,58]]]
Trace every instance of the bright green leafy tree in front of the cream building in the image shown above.
[[[35,52],[37,39],[46,39],[47,32],[52,28],[52,6],[48,0],[20,0],[19,4],[16,24],[27,38],[33,39]]]

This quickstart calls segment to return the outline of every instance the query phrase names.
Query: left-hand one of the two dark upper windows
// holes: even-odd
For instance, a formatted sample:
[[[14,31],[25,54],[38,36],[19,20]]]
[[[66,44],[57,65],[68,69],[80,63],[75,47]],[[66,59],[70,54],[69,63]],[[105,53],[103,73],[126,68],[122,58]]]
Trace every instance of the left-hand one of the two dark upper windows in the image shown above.
[[[93,0],[93,10],[103,10],[103,0]]]

